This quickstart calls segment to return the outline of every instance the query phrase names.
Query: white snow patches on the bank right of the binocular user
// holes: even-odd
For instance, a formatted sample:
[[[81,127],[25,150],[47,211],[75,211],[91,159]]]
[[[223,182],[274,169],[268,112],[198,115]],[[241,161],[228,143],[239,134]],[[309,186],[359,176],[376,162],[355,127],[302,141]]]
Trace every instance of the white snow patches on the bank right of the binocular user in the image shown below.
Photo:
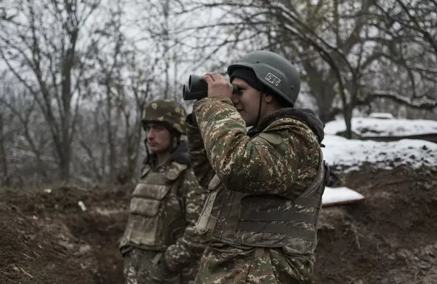
[[[381,116],[379,116],[381,117]],[[389,116],[387,116],[389,117]],[[373,130],[372,132],[366,129]],[[345,130],[345,122],[331,121],[325,126],[323,144],[324,159],[328,165],[343,172],[358,170],[363,163],[371,163],[377,168],[391,169],[397,165],[421,165],[437,167],[437,143],[423,140],[401,139],[392,142],[349,140],[335,136]],[[354,118],[352,130],[363,136],[408,136],[437,133],[437,121],[408,119]],[[326,187],[323,206],[332,206],[363,200],[360,193],[347,187]]]

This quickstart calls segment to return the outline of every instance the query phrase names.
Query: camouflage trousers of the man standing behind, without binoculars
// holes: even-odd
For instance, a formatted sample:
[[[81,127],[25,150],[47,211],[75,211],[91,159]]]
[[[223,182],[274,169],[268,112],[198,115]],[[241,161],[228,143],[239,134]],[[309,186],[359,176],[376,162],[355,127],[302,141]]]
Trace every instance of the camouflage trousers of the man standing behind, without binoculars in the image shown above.
[[[180,274],[172,275],[169,279],[153,279],[151,272],[156,271],[156,263],[162,257],[161,252],[146,251],[131,247],[124,253],[124,284],[193,284],[197,267],[185,268]]]

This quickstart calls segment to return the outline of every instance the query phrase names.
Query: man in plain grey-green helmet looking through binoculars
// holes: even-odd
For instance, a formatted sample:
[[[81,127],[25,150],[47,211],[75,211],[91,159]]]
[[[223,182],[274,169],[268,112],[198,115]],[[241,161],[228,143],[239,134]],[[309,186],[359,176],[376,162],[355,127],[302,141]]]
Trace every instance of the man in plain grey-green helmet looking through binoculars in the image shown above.
[[[323,124],[294,108],[301,83],[282,56],[253,51],[227,72],[239,94],[207,73],[208,97],[187,118],[191,165],[210,190],[195,226],[210,240],[195,283],[313,283]]]

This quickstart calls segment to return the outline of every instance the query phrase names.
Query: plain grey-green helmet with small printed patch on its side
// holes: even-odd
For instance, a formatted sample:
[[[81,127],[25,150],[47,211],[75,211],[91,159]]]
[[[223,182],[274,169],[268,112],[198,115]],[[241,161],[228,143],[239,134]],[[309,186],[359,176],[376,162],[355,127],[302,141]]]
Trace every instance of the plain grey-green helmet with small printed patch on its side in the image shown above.
[[[230,65],[227,74],[231,76],[237,68],[252,70],[264,86],[279,94],[292,106],[296,103],[301,80],[293,64],[281,55],[267,50],[255,50]]]

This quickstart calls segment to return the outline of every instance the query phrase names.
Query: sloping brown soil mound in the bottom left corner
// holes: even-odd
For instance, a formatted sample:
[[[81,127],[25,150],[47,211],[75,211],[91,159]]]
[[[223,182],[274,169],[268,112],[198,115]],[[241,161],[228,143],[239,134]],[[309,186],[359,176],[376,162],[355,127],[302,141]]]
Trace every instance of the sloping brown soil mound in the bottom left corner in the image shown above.
[[[62,241],[0,203],[0,283],[96,283],[83,255]]]

